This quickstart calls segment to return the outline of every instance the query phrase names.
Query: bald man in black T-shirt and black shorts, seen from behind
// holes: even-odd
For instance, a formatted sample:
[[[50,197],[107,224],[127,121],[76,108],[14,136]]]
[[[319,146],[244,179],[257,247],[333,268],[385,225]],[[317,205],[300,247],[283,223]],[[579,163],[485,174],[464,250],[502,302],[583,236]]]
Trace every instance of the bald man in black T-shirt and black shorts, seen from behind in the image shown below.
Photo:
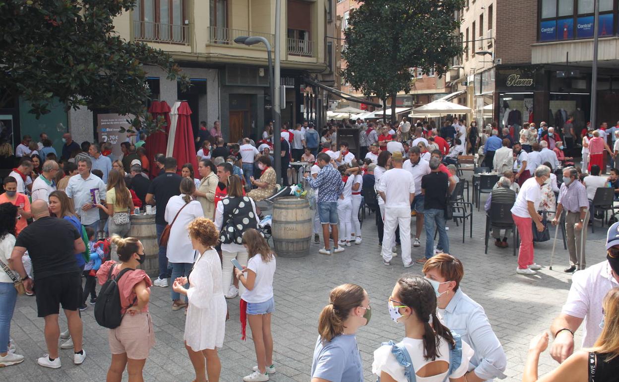
[[[59,305],[67,316],[69,332],[74,344],[73,362],[84,362],[86,353],[82,349],[82,319],[79,308],[82,305],[82,277],[77,266],[76,254],[86,250],[82,235],[68,220],[50,217],[48,204],[43,199],[32,202],[32,216],[35,220],[24,228],[15,241],[9,266],[24,280],[24,287],[32,291],[36,287],[37,313],[45,318],[45,342],[48,355],[38,358],[43,367],[61,367],[58,357]],[[36,284],[28,277],[22,256],[28,251]]]

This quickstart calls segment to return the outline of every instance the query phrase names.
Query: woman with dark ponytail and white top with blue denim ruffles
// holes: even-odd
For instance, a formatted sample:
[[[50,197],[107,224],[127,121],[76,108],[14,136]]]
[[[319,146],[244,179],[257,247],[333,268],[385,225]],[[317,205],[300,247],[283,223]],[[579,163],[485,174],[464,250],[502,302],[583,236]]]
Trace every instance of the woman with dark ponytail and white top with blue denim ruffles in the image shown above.
[[[372,372],[381,382],[406,382],[415,374],[420,381],[465,382],[474,352],[460,336],[449,331],[436,316],[436,292],[428,280],[404,276],[389,297],[389,315],[404,324],[405,337],[374,351]],[[408,360],[408,361],[407,361]]]

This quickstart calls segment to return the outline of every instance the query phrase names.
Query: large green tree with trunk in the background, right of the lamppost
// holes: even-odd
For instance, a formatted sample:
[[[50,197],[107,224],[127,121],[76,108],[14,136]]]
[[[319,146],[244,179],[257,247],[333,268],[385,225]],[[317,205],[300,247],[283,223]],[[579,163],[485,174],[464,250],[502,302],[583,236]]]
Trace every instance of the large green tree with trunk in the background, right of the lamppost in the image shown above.
[[[462,53],[460,25],[454,19],[464,0],[355,0],[344,31],[347,67],[344,79],[366,97],[386,102],[391,97],[391,118],[396,119],[396,95],[409,93],[412,68],[438,76],[449,61]]]

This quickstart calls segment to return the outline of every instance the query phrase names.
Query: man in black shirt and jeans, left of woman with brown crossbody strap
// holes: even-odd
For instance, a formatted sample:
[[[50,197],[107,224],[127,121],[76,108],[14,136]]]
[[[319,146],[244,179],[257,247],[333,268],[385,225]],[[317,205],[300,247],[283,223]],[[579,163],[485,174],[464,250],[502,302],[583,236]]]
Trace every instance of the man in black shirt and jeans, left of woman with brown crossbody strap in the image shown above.
[[[157,226],[157,241],[161,239],[161,234],[167,225],[165,221],[165,207],[172,196],[180,195],[181,178],[176,173],[176,159],[165,158],[165,174],[157,176],[151,183],[149,192],[146,194],[145,202],[157,206],[155,213],[155,225]],[[171,223],[171,222],[170,222]],[[168,257],[165,246],[159,246],[159,277],[153,281],[158,287],[167,287],[168,278],[172,270],[168,268]]]

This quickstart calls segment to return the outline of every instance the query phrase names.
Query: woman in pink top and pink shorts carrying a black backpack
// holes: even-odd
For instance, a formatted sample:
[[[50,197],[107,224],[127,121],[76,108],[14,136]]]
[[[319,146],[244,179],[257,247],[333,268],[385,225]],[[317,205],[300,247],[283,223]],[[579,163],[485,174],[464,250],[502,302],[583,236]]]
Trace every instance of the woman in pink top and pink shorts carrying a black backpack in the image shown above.
[[[112,362],[108,369],[107,382],[120,382],[123,371],[127,368],[129,381],[143,381],[142,370],[150,348],[155,345],[155,331],[150,319],[150,277],[142,269],[136,269],[144,263],[146,254],[141,241],[134,237],[121,238],[113,235],[112,243],[120,263],[106,261],[97,271],[99,284],[105,284],[111,277],[117,277],[124,269],[118,281],[120,292],[121,315],[120,326],[108,331],[108,342]]]

